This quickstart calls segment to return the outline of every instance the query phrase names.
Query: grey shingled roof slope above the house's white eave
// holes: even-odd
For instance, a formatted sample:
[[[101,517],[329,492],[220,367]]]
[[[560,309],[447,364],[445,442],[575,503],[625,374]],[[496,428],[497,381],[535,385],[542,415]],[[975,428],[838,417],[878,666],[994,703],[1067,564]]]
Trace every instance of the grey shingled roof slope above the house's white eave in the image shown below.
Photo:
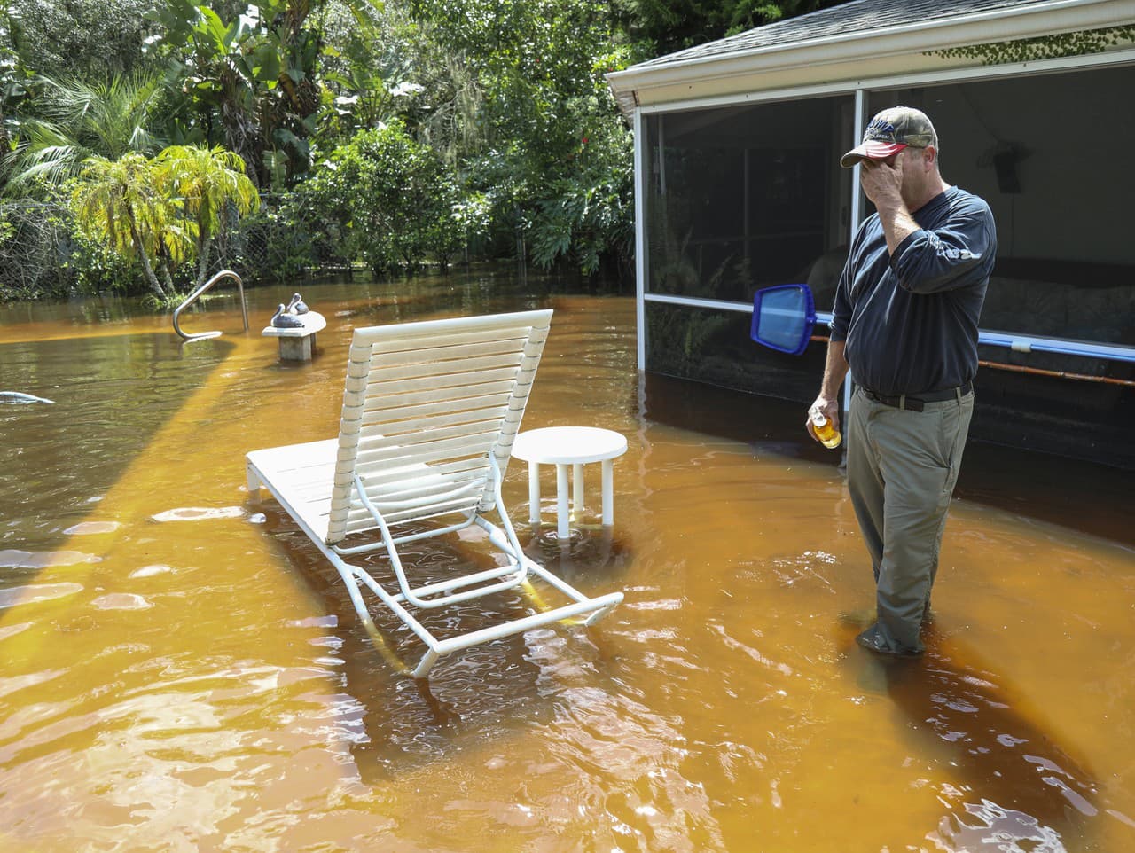
[[[852,0],[831,9],[765,24],[746,33],[699,44],[633,66],[636,69],[682,62],[689,59],[738,53],[758,48],[782,47],[791,42],[824,39],[831,35],[869,33],[903,24],[953,18],[995,9],[1049,3],[1051,0]]]

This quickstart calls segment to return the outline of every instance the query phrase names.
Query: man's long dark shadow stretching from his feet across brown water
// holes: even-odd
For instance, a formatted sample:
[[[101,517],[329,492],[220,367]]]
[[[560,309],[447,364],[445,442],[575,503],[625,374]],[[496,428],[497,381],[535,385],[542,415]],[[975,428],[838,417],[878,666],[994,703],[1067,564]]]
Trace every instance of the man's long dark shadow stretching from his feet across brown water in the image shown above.
[[[840,626],[849,674],[893,703],[918,760],[957,777],[953,789],[938,792],[945,850],[1081,850],[1096,821],[1109,819],[1087,763],[973,650],[930,624],[925,654],[882,657],[855,644],[860,627]]]

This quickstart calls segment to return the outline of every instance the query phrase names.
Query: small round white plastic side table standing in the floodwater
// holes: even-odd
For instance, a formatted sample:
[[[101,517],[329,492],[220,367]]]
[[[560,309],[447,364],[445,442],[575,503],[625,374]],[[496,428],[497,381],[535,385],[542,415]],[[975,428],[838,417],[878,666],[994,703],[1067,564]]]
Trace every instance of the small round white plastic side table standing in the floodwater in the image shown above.
[[[529,522],[540,521],[540,465],[556,466],[556,535],[566,539],[568,466],[572,466],[572,514],[583,510],[583,465],[603,463],[603,523],[615,523],[614,459],[627,453],[627,439],[614,430],[595,427],[548,427],[516,436],[512,455],[528,463]]]

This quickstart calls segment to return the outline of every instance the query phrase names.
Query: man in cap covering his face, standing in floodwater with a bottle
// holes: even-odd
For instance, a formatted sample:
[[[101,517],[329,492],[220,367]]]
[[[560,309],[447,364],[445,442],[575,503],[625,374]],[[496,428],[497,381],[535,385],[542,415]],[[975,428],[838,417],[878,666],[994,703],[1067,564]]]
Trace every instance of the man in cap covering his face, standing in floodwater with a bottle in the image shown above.
[[[923,651],[939,546],[974,412],[977,321],[997,255],[989,205],[948,185],[938,134],[893,107],[840,164],[859,163],[876,213],[859,228],[835,294],[819,396],[839,424],[851,370],[848,491],[875,572],[876,622],[856,637],[888,654]]]

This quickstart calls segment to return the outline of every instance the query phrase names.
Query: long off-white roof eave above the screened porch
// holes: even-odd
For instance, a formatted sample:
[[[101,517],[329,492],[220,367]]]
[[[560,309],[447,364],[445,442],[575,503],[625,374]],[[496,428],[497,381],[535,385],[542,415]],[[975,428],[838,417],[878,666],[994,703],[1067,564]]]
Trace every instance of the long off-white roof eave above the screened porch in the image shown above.
[[[1034,39],[1081,29],[1135,23],[1132,0],[1051,0],[953,18],[842,33],[784,45],[695,57],[647,68],[612,71],[607,84],[625,115],[641,92],[684,83],[751,75],[755,71],[856,62],[860,70],[884,57],[945,50],[990,42]],[[861,75],[859,75],[861,76]]]

